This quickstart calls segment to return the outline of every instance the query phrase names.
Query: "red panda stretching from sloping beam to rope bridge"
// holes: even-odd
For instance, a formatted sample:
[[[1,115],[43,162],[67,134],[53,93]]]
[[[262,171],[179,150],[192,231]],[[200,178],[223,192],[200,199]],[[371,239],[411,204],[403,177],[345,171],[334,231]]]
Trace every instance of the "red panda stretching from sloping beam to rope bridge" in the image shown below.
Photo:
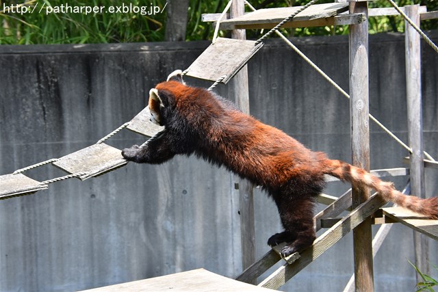
[[[313,209],[325,186],[325,174],[366,185],[387,201],[438,219],[438,197],[405,196],[392,183],[361,168],[313,152],[214,92],[185,85],[180,70],[149,94],[151,121],[164,126],[164,131],[148,144],[123,150],[123,157],[137,163],[163,163],[178,154],[194,154],[261,186],[276,203],[284,228],[268,244],[285,242],[283,256],[315,240]]]

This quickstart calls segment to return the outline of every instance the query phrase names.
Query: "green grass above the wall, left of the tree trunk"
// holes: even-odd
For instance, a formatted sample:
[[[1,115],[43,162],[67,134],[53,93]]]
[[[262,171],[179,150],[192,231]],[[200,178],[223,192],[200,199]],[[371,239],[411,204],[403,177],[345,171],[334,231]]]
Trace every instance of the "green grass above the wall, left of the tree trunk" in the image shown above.
[[[29,8],[23,13],[21,7]],[[86,12],[69,13],[66,3],[88,7],[123,8],[129,3],[140,7],[164,8],[166,1],[162,0],[30,0],[30,1],[0,1],[0,44],[83,44],[105,42],[149,42],[162,40],[163,27],[166,20],[165,12],[155,15],[142,15],[140,12],[127,11],[110,13]],[[144,4],[147,3],[147,4]],[[3,9],[3,5],[14,7],[14,13]],[[14,5],[14,6],[11,6]],[[44,5],[44,6],[43,6]],[[64,5],[64,11],[51,11]],[[18,12],[16,11],[18,10]],[[33,10],[33,12],[31,12]],[[21,12],[21,13],[20,13]],[[73,12],[73,10],[72,10]]]

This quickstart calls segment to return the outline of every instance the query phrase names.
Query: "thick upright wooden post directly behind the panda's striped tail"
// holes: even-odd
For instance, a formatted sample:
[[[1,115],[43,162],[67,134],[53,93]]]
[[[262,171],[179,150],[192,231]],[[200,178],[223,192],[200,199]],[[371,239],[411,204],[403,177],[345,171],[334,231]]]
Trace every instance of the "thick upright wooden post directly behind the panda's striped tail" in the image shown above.
[[[350,25],[350,123],[352,164],[370,170],[368,103],[368,3],[350,2],[350,13],[365,13],[363,23]],[[366,187],[352,186],[352,207],[369,198]],[[374,291],[371,218],[353,230],[356,291]]]

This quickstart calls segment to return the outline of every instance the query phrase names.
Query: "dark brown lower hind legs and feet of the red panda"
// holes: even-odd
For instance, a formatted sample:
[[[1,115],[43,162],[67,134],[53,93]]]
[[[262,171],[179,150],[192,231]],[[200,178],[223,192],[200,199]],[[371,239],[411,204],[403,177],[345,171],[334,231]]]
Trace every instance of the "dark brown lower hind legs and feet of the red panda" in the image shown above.
[[[272,235],[268,244],[272,246],[286,242],[287,245],[281,250],[285,257],[310,246],[316,238],[313,228],[313,196],[276,198],[275,202],[285,231]]]

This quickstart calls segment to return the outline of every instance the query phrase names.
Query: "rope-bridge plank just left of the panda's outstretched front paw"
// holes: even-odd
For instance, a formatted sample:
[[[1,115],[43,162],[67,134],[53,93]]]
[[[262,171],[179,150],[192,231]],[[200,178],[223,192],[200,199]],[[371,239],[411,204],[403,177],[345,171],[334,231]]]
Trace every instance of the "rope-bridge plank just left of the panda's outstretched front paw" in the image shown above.
[[[53,165],[70,174],[86,172],[86,174],[79,176],[81,181],[85,181],[87,178],[110,172],[127,163],[121,150],[101,143],[61,157]]]

